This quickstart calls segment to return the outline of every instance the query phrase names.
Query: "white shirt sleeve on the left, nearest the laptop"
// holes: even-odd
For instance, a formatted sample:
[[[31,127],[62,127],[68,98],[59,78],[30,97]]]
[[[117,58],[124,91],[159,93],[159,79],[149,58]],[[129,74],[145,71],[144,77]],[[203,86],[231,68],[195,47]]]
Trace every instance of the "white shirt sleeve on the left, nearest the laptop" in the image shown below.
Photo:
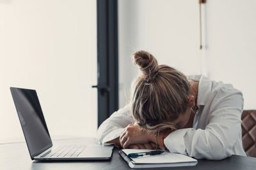
[[[108,141],[118,138],[125,127],[133,124],[134,120],[130,113],[130,104],[124,108],[115,111],[106,119],[97,131],[97,141],[102,145],[111,145]]]

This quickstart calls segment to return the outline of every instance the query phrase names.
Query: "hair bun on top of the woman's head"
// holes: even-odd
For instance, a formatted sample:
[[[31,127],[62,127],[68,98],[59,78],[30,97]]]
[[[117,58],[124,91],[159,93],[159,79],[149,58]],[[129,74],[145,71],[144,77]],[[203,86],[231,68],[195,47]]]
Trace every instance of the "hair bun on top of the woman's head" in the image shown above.
[[[140,50],[132,55],[132,60],[135,65],[140,67],[141,72],[150,81],[158,74],[158,63],[156,58],[149,52]]]

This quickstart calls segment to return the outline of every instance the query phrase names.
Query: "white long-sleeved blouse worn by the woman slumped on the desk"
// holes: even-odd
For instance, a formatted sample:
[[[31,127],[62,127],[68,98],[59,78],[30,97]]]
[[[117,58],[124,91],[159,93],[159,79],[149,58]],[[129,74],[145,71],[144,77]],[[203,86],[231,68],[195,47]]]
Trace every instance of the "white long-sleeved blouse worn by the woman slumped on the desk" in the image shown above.
[[[202,75],[188,76],[199,81],[193,128],[178,129],[164,139],[170,152],[196,159],[224,159],[244,155],[241,130],[243,94],[230,84],[212,81]],[[118,138],[124,127],[134,123],[130,104],[115,111],[99,127],[97,141],[103,145]]]

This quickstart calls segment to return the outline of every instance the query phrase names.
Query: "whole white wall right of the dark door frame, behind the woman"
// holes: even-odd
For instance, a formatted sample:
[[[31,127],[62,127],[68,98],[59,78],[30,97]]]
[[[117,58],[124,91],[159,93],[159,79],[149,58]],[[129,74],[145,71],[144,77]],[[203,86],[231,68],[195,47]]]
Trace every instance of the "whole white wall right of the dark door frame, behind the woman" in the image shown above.
[[[256,1],[207,0],[202,6],[204,49],[199,50],[198,1],[118,1],[120,107],[127,102],[136,50],[148,50],[185,74],[232,83],[244,109],[256,109]]]

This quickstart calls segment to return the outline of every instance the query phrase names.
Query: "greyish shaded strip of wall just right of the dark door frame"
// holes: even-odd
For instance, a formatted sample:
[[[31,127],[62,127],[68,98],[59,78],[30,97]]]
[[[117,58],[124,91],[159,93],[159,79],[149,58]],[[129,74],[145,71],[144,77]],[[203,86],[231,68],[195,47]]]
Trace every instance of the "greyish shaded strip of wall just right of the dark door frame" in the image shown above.
[[[140,42],[139,30],[139,6],[137,1],[118,1],[118,46],[119,57],[119,100],[120,108],[129,101],[131,81],[138,73],[138,68],[132,63],[132,53],[138,49]],[[131,20],[132,18],[132,20]]]

